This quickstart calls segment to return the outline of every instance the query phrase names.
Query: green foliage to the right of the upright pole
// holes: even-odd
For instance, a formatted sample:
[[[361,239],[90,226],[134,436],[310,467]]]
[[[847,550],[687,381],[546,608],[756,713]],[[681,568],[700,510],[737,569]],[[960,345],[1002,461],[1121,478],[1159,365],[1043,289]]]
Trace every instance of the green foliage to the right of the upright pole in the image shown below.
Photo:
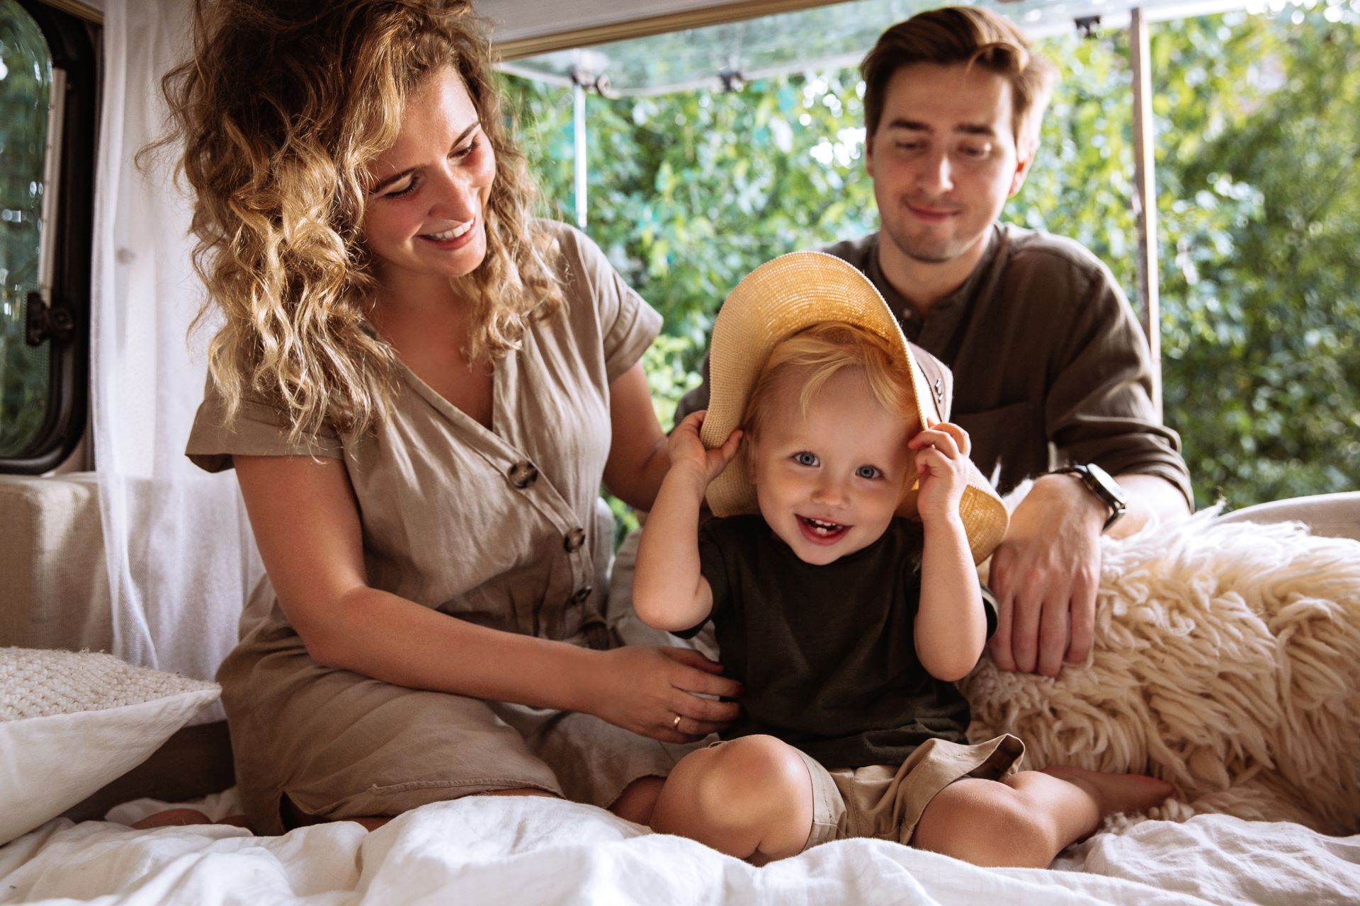
[[[1352,490],[1360,15],[1238,14],[1186,35],[1155,49],[1180,75],[1157,110],[1175,137],[1159,162],[1167,412],[1201,494]]]

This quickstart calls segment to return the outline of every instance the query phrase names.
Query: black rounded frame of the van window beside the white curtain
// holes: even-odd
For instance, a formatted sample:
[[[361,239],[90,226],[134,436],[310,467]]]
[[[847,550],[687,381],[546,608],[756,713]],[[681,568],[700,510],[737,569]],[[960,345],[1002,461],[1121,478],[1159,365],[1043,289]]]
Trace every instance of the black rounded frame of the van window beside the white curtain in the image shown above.
[[[65,73],[54,216],[44,224],[52,255],[50,315],[60,327],[48,350],[48,409],[29,444],[0,456],[0,473],[42,474],[67,459],[86,433],[90,410],[90,297],[94,250],[94,167],[98,115],[97,26],[39,0],[18,0],[42,30],[52,68]],[[56,84],[56,79],[53,83]],[[50,167],[50,163],[49,163]],[[53,231],[50,235],[48,231]],[[69,323],[67,323],[69,316]]]

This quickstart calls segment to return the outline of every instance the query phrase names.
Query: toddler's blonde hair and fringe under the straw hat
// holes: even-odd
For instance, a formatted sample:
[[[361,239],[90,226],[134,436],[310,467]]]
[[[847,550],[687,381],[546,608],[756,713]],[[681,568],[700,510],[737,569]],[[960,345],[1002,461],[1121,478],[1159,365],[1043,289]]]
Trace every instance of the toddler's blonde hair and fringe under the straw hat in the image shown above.
[[[747,401],[741,428],[758,437],[768,417],[768,402],[787,379],[798,378],[798,413],[806,417],[826,383],[845,369],[864,375],[874,401],[887,412],[918,421],[910,365],[879,334],[836,321],[813,325],[789,337],[771,352]]]

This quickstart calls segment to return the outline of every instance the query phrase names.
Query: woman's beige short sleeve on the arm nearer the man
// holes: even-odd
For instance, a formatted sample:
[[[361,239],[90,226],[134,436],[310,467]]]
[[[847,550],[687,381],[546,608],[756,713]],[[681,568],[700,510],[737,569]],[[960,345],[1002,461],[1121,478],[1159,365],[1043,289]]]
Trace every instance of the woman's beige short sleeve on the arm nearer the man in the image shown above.
[[[559,225],[559,240],[568,264],[579,268],[579,273],[570,274],[570,280],[583,283],[581,292],[594,306],[605,375],[613,383],[642,359],[661,333],[661,315],[624,283],[589,236],[563,224]]]

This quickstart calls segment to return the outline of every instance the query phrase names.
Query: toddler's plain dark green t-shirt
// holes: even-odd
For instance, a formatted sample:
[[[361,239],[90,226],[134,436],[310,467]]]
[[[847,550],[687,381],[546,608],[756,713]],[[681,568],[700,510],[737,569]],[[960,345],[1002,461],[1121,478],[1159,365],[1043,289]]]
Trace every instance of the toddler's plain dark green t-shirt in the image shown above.
[[[741,714],[724,738],[770,733],[827,767],[896,765],[928,739],[966,742],[968,702],[915,652],[921,523],[826,566],[798,560],[760,516],[711,519],[699,560]],[[987,634],[996,604],[987,604]],[[690,633],[698,632],[698,628]]]

